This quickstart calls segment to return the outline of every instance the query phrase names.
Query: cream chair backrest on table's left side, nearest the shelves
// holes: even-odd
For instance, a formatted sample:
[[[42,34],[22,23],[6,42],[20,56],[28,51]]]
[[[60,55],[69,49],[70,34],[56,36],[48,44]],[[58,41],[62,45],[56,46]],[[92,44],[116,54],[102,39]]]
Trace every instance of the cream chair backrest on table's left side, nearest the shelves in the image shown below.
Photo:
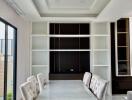
[[[39,87],[40,87],[40,92],[41,92],[43,90],[44,86],[47,84],[47,79],[44,76],[44,74],[42,74],[42,73],[37,74],[37,79],[39,82]]]

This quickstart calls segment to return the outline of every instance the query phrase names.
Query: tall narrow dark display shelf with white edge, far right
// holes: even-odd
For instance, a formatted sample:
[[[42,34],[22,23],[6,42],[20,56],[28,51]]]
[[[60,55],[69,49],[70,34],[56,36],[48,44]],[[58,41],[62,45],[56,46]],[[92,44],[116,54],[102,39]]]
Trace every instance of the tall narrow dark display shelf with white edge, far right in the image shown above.
[[[128,18],[122,18],[117,21],[116,32],[116,76],[130,75],[130,34]]]

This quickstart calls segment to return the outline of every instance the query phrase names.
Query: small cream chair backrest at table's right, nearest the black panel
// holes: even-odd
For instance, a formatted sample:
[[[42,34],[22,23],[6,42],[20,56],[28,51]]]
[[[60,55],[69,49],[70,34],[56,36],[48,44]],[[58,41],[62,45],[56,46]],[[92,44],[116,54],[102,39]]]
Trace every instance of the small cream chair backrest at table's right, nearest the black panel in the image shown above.
[[[89,73],[89,72],[85,72],[85,73],[84,73],[84,76],[83,76],[83,83],[84,83],[84,85],[86,85],[88,88],[89,88],[89,86],[90,86],[91,77],[92,77],[91,73]]]

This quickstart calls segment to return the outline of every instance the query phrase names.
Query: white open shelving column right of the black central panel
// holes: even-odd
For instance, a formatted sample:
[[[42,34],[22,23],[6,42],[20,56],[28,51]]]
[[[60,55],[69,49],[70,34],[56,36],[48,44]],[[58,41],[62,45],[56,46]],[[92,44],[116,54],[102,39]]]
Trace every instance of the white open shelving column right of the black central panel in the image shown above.
[[[91,23],[91,72],[108,80],[108,92],[111,96],[110,65],[110,24]]]

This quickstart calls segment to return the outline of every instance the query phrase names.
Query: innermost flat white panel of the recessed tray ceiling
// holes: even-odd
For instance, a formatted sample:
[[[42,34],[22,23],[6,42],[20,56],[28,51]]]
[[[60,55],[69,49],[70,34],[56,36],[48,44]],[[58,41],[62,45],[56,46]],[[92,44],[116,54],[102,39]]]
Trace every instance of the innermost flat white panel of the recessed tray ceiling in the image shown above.
[[[96,0],[46,0],[52,9],[89,9]]]

